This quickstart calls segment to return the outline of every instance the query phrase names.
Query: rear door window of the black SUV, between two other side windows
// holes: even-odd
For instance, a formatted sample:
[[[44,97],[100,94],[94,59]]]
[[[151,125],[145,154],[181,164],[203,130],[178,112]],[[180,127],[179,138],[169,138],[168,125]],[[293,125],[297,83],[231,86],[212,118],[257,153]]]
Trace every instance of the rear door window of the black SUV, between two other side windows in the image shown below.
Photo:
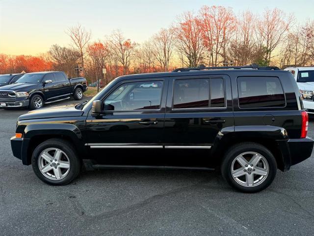
[[[224,83],[222,78],[175,81],[174,109],[224,106]]]

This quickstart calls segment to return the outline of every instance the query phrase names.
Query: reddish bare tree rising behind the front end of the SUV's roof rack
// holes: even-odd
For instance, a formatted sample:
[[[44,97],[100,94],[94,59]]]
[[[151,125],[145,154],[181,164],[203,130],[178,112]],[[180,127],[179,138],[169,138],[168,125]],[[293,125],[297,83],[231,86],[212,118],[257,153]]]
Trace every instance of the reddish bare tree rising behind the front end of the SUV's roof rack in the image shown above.
[[[185,12],[172,27],[179,55],[184,65],[195,67],[204,59],[201,21],[192,12]]]

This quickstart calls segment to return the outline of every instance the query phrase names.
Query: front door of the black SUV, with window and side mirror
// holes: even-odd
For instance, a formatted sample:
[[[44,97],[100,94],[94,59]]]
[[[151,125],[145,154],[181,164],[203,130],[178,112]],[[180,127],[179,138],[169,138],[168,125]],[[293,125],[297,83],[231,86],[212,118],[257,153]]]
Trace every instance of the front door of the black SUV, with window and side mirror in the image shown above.
[[[158,86],[146,86],[152,82]],[[116,164],[147,165],[156,149],[163,148],[167,83],[167,78],[137,79],[119,82],[110,89],[102,99],[104,113],[90,113],[86,120],[86,145],[94,156],[106,157],[106,161],[113,156]],[[109,155],[112,148],[114,154]]]

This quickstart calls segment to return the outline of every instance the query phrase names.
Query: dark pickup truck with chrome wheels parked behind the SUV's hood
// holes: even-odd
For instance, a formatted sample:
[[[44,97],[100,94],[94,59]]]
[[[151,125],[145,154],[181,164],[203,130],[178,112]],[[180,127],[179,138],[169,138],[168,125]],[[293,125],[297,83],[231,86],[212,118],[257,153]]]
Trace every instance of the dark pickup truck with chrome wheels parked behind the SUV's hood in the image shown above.
[[[27,73],[15,83],[0,87],[0,108],[39,109],[71,96],[80,100],[86,90],[83,77],[68,79],[62,71]]]

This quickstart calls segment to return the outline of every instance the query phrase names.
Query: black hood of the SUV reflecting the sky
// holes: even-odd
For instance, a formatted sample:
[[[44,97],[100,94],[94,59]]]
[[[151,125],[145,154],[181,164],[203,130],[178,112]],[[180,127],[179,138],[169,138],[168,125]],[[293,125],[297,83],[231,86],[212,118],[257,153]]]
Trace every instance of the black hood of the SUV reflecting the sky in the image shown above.
[[[42,108],[30,111],[18,118],[24,119],[43,119],[43,118],[58,118],[58,117],[80,117],[83,111],[75,109],[75,105],[64,105],[52,108]]]

